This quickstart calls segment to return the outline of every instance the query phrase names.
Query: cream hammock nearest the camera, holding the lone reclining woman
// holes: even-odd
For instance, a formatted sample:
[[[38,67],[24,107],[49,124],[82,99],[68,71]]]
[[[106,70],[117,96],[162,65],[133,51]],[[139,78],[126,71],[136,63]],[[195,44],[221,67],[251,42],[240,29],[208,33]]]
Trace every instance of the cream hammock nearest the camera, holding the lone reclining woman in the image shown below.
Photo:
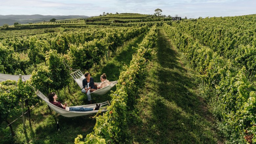
[[[98,112],[98,110],[88,111],[88,112],[67,111],[67,110],[59,108],[59,107],[55,106],[54,104],[52,104],[51,102],[49,102],[49,99],[44,94],[42,94],[39,90],[36,91],[36,95],[38,97],[40,97],[41,99],[43,99],[54,112],[56,112],[56,113],[58,113],[58,114],[60,114],[61,116],[64,116],[64,117],[85,116],[85,115],[90,115],[90,114],[94,114],[94,113]],[[107,105],[108,102],[106,101],[106,102],[102,102],[102,103],[99,103],[99,104],[101,104],[101,106],[104,106],[104,105]],[[79,105],[79,106],[72,106],[72,107],[95,108],[96,104]],[[105,111],[107,111],[107,110],[102,110],[101,112],[105,112]]]

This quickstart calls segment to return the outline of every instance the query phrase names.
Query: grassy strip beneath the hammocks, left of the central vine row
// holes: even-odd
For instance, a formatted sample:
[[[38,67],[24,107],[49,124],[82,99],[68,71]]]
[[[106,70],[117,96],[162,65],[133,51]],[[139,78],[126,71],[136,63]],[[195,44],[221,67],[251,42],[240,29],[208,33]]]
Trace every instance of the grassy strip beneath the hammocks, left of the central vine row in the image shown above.
[[[111,57],[106,64],[91,70],[92,77],[96,82],[100,81],[100,75],[106,73],[109,81],[117,81],[120,72],[123,70],[123,65],[130,64],[132,54],[136,52],[132,49],[132,46],[137,46],[143,40],[144,35],[140,35],[135,38],[130,44],[123,47],[122,50],[116,53],[114,57]],[[115,90],[114,87],[112,90]],[[74,81],[70,83],[70,91],[68,88],[59,90],[58,98],[60,101],[67,101],[69,106],[84,105],[87,104],[87,96],[80,92],[80,88]],[[104,102],[111,100],[110,92],[105,95],[92,94],[93,103]],[[63,117],[52,110],[49,110],[47,104],[42,102],[39,107],[36,107],[31,112],[32,125],[26,121],[26,131],[23,131],[22,119],[20,118],[15,122],[13,130],[16,136],[6,136],[10,134],[9,127],[5,130],[5,134],[0,134],[0,143],[42,143],[42,144],[54,144],[54,143],[74,143],[77,135],[83,135],[84,137],[93,131],[96,120],[94,115],[81,116],[81,117]],[[18,116],[17,116],[18,117]],[[59,122],[60,131],[56,131],[56,121]],[[7,125],[5,122],[3,126]]]

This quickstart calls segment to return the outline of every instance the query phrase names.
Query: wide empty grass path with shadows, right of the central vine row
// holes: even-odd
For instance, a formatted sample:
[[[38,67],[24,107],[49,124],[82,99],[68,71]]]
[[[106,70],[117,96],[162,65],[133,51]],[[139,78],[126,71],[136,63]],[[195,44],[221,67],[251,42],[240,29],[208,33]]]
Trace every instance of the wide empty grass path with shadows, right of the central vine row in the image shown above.
[[[221,143],[193,72],[161,28],[158,37],[157,54],[139,94],[142,124],[131,126],[132,142]]]

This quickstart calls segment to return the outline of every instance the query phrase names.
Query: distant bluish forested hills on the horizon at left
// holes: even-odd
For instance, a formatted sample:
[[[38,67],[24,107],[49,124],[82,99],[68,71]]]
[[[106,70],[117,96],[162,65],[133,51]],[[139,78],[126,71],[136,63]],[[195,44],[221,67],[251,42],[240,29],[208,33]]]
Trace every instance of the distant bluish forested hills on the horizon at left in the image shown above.
[[[88,18],[85,15],[0,15],[0,26],[4,24],[13,25],[18,22],[20,24],[37,23],[42,21],[50,21],[55,18],[56,20],[71,19],[71,18]]]

